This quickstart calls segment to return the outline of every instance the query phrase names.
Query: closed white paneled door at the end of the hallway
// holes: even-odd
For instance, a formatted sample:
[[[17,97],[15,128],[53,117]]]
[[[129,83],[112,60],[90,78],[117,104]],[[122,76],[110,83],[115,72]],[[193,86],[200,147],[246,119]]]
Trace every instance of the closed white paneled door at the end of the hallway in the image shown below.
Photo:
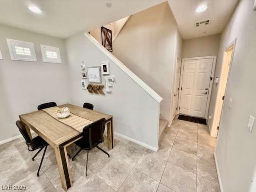
[[[204,118],[212,64],[213,58],[184,61],[180,114]]]

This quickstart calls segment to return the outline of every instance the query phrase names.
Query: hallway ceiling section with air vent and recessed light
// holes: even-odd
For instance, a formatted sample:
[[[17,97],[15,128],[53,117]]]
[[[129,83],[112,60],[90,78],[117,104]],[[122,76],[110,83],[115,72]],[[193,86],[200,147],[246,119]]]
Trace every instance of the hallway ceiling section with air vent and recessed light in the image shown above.
[[[183,39],[208,36],[222,32],[239,0],[168,0]],[[196,8],[207,5],[204,12]],[[209,25],[195,27],[195,23],[210,19]]]

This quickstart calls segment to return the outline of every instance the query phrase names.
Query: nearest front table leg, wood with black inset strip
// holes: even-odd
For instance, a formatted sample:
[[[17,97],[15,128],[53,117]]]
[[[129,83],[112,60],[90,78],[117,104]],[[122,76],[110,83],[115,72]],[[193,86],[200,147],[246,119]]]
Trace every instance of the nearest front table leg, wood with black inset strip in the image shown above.
[[[62,188],[67,191],[72,186],[68,155],[66,147],[60,145],[55,148],[56,160],[60,173]]]

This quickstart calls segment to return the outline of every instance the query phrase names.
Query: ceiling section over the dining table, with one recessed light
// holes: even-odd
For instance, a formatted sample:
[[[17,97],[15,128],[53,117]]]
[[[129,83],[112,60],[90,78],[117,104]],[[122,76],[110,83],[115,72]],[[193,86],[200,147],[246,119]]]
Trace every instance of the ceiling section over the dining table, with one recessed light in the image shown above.
[[[91,30],[165,0],[0,0],[0,23],[59,38]],[[107,8],[106,3],[112,7]],[[28,10],[38,6],[42,14]]]

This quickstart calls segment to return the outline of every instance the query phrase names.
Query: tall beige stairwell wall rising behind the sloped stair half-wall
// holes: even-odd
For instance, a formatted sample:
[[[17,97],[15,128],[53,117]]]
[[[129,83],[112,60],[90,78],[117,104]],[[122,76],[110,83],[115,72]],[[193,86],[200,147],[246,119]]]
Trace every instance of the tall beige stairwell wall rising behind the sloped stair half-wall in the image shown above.
[[[113,54],[162,98],[170,120],[177,24],[168,2],[130,16],[113,43]],[[175,56],[176,57],[176,56]]]

